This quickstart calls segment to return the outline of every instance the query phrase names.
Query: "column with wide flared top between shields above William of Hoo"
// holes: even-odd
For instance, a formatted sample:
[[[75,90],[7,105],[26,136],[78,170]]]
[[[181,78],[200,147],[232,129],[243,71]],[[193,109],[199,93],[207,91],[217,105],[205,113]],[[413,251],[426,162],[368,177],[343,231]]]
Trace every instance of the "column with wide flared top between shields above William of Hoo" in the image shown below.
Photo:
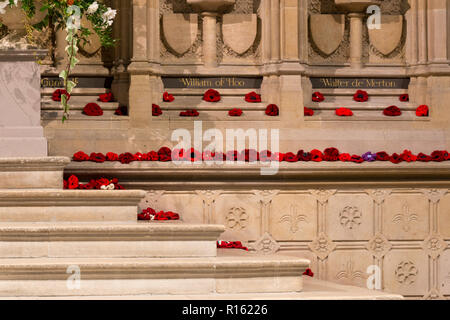
[[[217,67],[217,16],[231,9],[236,0],[186,0],[203,17],[203,63]]]

